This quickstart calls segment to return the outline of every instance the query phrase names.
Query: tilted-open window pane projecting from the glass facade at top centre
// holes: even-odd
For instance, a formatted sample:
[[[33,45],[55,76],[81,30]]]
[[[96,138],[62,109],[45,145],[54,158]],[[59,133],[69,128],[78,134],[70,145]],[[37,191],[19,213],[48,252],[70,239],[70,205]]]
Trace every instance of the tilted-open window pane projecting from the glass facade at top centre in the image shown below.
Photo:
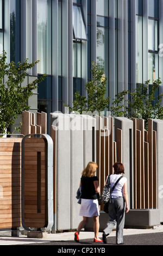
[[[73,33],[75,39],[87,40],[82,6],[73,5]]]

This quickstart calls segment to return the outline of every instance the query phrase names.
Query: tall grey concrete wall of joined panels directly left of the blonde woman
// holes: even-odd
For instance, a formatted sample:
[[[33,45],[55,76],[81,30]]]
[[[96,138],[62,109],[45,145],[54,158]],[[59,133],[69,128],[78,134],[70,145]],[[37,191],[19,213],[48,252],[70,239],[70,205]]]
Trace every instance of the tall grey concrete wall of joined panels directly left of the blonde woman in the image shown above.
[[[57,127],[57,230],[76,229],[82,220],[76,199],[82,171],[89,161],[96,161],[95,119],[52,113],[51,124]]]

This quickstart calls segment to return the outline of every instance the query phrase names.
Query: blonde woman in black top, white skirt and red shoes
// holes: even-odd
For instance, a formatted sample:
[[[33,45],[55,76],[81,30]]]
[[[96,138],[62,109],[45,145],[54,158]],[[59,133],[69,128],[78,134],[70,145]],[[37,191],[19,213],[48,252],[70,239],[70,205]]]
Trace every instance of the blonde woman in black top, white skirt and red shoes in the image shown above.
[[[99,205],[97,199],[97,193],[99,193],[98,178],[95,176],[97,164],[95,162],[89,162],[86,168],[82,172],[82,178],[80,180],[80,186],[82,186],[82,202],[80,206],[79,215],[83,216],[83,221],[79,223],[77,232],[74,234],[74,240],[79,242],[79,233],[85,224],[88,222],[89,217],[93,217],[95,233],[94,242],[103,242],[98,237],[99,231]]]

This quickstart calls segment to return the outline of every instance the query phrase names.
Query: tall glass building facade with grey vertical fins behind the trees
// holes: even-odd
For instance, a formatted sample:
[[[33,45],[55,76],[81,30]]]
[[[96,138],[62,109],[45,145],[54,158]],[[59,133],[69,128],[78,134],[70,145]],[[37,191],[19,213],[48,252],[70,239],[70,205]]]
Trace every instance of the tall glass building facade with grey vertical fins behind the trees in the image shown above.
[[[11,0],[7,5],[7,2],[0,0],[0,52],[3,48],[10,50],[10,60],[16,63],[26,56],[30,61],[35,60],[34,57],[40,60],[36,74],[41,76],[46,73],[47,79],[39,84],[38,111],[62,111],[63,104],[71,105],[75,92],[85,95],[84,83],[91,80],[92,60],[104,70],[106,96],[111,99],[118,93],[118,88],[136,88],[136,84],[145,82],[144,77],[151,80],[152,86],[154,80],[162,77],[159,74],[160,1],[148,0],[145,3],[135,0],[136,5],[133,5],[132,0],[36,0],[36,6],[34,2]],[[122,4],[124,11],[121,11]],[[143,9],[147,7],[148,10]],[[5,8],[9,10],[4,12]],[[126,10],[127,15],[124,16]],[[10,14],[9,19],[4,19],[4,13]],[[23,16],[26,19],[23,20]],[[9,23],[5,24],[7,20]],[[132,21],[136,22],[135,27]],[[125,42],[122,49],[120,40]],[[134,44],[131,44],[133,40]],[[113,54],[109,53],[112,44]],[[126,53],[128,56],[124,56]],[[114,58],[114,69],[110,68],[111,58]],[[127,67],[121,64],[124,59],[128,62]],[[134,65],[131,63],[133,59]],[[109,72],[113,70],[111,76]],[[126,80],[128,78],[126,84],[122,79],[123,84],[120,85],[120,74]]]

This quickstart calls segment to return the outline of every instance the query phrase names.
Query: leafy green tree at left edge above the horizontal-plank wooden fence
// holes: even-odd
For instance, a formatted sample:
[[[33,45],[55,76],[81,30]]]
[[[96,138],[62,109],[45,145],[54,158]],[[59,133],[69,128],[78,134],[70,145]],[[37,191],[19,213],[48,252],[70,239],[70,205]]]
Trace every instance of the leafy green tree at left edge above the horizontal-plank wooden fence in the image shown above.
[[[3,52],[0,56],[0,133],[3,134],[10,125],[15,124],[15,119],[22,111],[29,110],[28,98],[33,95],[37,84],[46,77],[43,75],[27,86],[21,86],[27,70],[32,69],[39,60],[29,64],[28,59],[25,59],[23,63],[16,65],[14,62],[6,63],[6,59],[7,53]]]

